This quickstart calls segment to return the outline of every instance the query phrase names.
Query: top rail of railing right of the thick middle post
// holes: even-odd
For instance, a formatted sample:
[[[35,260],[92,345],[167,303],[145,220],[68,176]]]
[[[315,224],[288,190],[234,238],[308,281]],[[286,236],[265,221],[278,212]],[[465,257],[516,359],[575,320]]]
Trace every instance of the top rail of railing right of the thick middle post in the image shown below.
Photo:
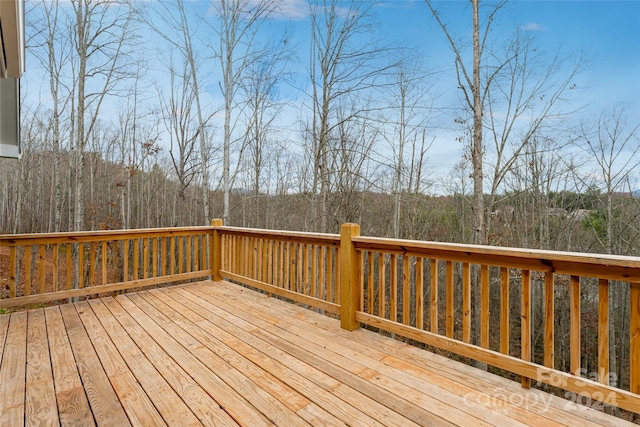
[[[356,249],[640,282],[640,257],[354,237]]]

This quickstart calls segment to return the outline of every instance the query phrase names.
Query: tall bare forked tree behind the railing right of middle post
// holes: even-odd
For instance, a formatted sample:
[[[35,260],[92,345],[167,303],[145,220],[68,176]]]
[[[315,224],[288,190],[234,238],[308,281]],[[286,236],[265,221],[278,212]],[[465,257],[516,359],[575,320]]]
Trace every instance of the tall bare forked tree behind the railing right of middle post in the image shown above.
[[[563,116],[561,106],[565,95],[575,89],[575,78],[583,61],[578,59],[566,64],[559,54],[549,57],[536,49],[530,35],[518,28],[505,46],[494,45],[489,35],[498,13],[508,1],[484,7],[480,0],[469,1],[470,60],[465,59],[468,54],[464,41],[454,38],[432,1],[426,0],[426,4],[455,56],[458,89],[464,105],[464,115],[456,122],[468,132],[464,139],[468,139],[468,155],[473,167],[473,241],[487,244],[491,220],[488,212],[504,178],[533,136]],[[491,167],[488,199],[485,198],[487,164]]]

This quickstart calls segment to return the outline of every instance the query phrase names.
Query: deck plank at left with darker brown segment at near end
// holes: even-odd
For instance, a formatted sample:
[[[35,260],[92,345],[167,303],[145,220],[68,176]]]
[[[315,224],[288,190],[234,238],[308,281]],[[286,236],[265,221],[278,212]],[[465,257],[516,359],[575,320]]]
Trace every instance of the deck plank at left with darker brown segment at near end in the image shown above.
[[[44,309],[58,416],[62,426],[94,426],[73,351],[58,307]]]

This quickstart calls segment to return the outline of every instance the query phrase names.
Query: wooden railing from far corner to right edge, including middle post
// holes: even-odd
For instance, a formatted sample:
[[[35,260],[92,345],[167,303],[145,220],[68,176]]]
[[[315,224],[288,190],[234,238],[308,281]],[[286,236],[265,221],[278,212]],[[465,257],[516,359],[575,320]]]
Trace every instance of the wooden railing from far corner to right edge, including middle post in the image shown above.
[[[640,258],[363,237],[355,224],[340,235],[216,230],[220,277],[339,313],[348,330],[368,325],[520,375],[524,387],[535,381],[577,402],[640,413]],[[630,333],[617,342],[609,337],[614,286],[629,291]],[[565,294],[568,313],[557,304]],[[586,299],[597,301],[595,313],[581,307]],[[597,319],[594,372],[581,366],[582,319],[589,316]],[[562,317],[567,369],[556,358]],[[541,346],[534,333],[542,334]],[[610,384],[609,348],[621,340],[629,349],[625,389],[617,386],[622,379]]]

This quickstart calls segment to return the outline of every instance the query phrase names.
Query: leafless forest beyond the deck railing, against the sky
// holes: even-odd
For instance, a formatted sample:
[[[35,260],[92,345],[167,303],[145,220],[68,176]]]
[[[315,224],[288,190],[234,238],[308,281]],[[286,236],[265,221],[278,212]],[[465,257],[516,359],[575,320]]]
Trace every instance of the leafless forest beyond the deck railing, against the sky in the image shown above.
[[[377,38],[373,2],[303,3],[305,37],[277,0],[28,0],[23,157],[0,160],[0,232],[356,222],[363,235],[639,255],[640,123],[624,105],[583,110],[580,54],[542,52],[515,25],[493,40],[506,1],[427,1],[432,43],[451,51],[436,67]],[[452,13],[468,32],[453,33]],[[438,67],[455,108],[432,84]],[[463,148],[446,173],[431,164],[438,144]],[[628,334],[628,285],[612,289],[612,327]],[[584,322],[592,345],[597,319]]]

